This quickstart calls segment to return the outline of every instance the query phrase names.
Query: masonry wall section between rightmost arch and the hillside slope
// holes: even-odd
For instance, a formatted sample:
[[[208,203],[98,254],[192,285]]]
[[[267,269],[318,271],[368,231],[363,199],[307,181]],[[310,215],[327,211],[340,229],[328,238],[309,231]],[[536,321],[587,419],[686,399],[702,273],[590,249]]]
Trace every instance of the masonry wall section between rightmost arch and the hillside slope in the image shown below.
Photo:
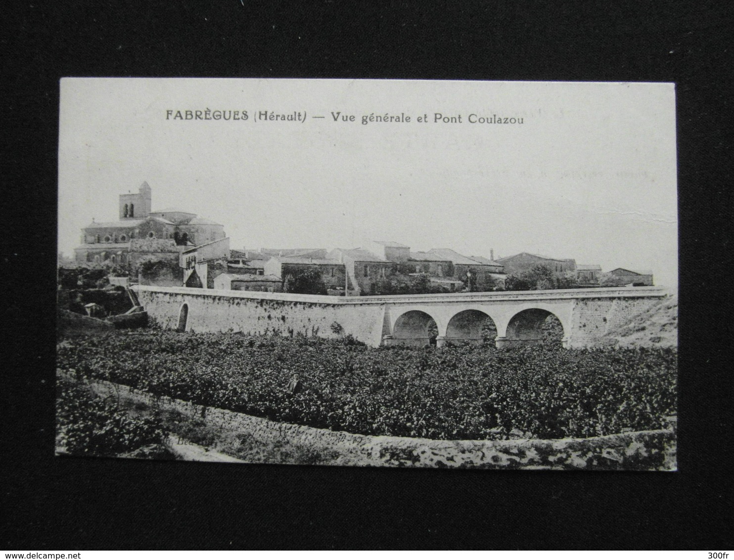
[[[655,298],[577,299],[570,346],[592,343],[610,330],[628,324],[633,316],[657,302]]]

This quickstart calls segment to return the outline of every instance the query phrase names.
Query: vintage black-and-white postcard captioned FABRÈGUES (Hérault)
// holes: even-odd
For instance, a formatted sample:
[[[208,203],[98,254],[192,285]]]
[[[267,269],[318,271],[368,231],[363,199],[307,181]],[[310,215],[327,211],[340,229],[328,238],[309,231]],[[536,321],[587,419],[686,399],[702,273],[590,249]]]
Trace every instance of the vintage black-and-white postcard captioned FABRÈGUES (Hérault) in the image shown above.
[[[675,470],[674,84],[60,87],[57,454]]]

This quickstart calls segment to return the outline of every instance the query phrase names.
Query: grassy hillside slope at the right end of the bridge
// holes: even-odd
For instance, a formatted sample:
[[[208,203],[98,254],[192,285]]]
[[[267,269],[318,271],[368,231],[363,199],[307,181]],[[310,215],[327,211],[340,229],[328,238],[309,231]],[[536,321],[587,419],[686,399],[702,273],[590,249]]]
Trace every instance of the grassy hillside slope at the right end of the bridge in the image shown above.
[[[677,296],[661,299],[652,308],[634,316],[628,324],[611,330],[601,344],[625,348],[677,346]]]

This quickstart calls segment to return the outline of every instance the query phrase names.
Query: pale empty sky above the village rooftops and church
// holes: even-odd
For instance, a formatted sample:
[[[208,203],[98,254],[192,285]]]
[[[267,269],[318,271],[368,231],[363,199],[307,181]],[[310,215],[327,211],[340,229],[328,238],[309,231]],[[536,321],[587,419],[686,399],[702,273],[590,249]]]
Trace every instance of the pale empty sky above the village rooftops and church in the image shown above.
[[[118,195],[148,181],[153,210],[214,219],[233,249],[375,239],[537,252],[652,269],[658,286],[677,286],[673,84],[80,78],[61,94],[67,255],[92,217],[116,221]],[[248,120],[173,118],[186,109]],[[306,117],[255,120],[261,111]],[[370,114],[411,120],[363,125]]]

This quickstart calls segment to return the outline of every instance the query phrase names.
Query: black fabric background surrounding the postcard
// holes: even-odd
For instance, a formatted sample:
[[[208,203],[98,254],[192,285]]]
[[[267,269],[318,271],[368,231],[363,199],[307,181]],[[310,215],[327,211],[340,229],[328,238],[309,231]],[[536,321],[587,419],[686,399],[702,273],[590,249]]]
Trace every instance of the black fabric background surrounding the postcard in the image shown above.
[[[732,548],[730,3],[26,0],[1,25],[2,548]],[[62,76],[675,81],[680,471],[54,457]]]

